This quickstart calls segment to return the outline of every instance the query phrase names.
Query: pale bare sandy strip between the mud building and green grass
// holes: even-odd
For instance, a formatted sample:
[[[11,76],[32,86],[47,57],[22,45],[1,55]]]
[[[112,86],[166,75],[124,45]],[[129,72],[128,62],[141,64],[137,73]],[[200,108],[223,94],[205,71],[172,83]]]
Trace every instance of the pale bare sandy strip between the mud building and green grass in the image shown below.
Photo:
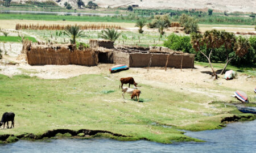
[[[150,67],[149,71],[146,68],[130,68],[127,71],[114,74],[109,72],[109,68],[113,64],[100,64],[91,67],[79,65],[30,66],[24,58],[18,57],[22,45],[12,43],[11,46],[13,46],[11,49],[7,49],[8,55],[0,59],[0,74],[8,76],[27,74],[43,79],[67,79],[82,74],[102,74],[110,81],[133,76],[139,84],[148,84],[152,87],[191,94],[202,94],[202,97],[209,96],[215,100],[236,100],[231,97],[236,90],[251,93],[249,95],[251,99],[254,99],[253,90],[256,86],[256,79],[253,76],[241,73],[238,73],[237,78],[233,80],[222,79],[223,75],[218,80],[213,80],[212,76],[208,74],[210,67],[198,65],[195,66],[196,69],[193,69],[193,71],[191,69],[182,69],[181,71],[180,69],[171,68],[165,71],[163,67]]]

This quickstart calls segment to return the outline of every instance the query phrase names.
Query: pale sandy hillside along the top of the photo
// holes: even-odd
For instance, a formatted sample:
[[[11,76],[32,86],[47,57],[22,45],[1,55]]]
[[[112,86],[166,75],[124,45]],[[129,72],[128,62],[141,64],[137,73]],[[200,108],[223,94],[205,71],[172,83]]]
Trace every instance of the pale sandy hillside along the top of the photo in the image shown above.
[[[14,2],[26,2],[28,0],[13,0]],[[48,0],[38,0],[48,1]],[[89,0],[82,0],[85,4]],[[77,0],[61,0],[58,5],[64,6],[68,2],[73,7],[77,7]],[[228,12],[256,12],[255,0],[94,0],[100,7],[126,7],[128,5],[138,5],[139,8],[171,8],[171,9],[201,9],[212,8],[217,11]]]

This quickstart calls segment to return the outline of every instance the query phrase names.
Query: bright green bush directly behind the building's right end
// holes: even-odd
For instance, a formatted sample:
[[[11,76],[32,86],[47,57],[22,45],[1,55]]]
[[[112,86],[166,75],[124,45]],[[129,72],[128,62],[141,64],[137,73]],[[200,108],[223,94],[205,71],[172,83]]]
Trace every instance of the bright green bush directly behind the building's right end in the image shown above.
[[[190,43],[189,36],[178,36],[172,33],[167,37],[167,40],[164,41],[164,46],[173,50],[181,50],[184,53],[192,52],[192,45]]]

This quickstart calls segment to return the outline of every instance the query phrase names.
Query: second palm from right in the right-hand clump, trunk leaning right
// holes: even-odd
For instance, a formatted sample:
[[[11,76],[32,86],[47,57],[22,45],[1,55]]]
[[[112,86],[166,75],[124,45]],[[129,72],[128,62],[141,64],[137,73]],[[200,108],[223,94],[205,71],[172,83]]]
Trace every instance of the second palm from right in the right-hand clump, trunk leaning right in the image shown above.
[[[229,53],[233,52],[232,44],[234,44],[234,42],[236,42],[236,36],[232,32],[225,32],[225,31],[222,31],[221,34],[222,34],[222,40],[224,41],[224,47],[225,47],[225,52],[226,52],[226,64],[220,73],[222,75],[226,69],[226,66],[228,66],[228,63],[234,57],[236,57],[236,56],[233,56],[232,58],[229,59]]]

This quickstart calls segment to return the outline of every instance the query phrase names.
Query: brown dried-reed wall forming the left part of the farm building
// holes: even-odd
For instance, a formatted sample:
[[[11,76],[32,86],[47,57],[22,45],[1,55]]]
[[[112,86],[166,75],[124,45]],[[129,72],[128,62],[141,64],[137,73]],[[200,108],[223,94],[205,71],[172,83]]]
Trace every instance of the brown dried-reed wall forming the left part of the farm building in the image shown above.
[[[24,52],[24,51],[23,51]],[[98,64],[97,52],[91,48],[73,49],[72,45],[30,45],[26,50],[27,63],[30,65],[85,65]]]

